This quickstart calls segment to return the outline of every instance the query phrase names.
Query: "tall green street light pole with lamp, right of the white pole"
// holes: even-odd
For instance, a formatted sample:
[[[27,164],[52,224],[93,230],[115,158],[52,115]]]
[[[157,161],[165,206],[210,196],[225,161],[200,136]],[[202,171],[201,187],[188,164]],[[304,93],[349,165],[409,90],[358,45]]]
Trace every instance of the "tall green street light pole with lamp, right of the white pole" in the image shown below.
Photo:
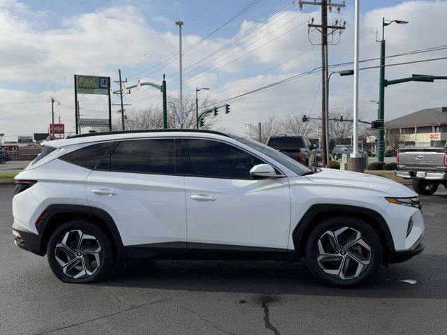
[[[383,162],[385,155],[385,27],[393,22],[397,24],[407,24],[408,21],[403,20],[385,20],[382,17],[382,38],[380,41],[380,73],[379,73],[379,109],[377,110],[377,121],[379,128],[377,129],[377,158],[379,162]]]

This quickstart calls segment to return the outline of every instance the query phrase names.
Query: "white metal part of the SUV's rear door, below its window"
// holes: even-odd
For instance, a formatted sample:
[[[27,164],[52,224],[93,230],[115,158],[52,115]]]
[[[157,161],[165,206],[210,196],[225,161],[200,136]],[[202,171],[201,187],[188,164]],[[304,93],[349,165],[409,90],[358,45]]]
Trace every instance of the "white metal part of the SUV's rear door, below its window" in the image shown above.
[[[124,245],[186,241],[183,176],[92,171],[85,191],[91,207],[112,216]]]

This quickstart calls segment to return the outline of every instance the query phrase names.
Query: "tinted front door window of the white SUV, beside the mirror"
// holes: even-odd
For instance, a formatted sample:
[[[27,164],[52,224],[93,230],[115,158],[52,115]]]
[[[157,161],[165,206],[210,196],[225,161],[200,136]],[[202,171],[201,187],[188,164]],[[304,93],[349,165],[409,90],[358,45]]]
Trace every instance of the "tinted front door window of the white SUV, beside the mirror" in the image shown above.
[[[229,144],[212,140],[186,142],[190,166],[185,172],[196,177],[251,179],[251,168],[263,164],[260,159]]]

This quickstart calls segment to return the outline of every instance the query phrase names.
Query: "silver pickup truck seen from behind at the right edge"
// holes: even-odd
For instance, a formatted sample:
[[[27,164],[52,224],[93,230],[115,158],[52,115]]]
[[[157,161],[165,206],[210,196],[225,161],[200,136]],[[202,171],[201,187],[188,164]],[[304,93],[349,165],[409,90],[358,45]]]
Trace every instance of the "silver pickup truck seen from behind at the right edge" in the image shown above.
[[[412,179],[420,195],[432,195],[439,184],[447,188],[446,147],[401,148],[397,151],[397,177]]]

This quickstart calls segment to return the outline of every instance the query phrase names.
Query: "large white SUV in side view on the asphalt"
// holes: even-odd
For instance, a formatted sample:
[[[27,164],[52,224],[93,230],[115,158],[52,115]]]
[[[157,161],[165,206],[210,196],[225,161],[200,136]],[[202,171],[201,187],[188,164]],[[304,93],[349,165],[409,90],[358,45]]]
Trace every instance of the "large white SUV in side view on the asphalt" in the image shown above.
[[[69,283],[100,281],[124,258],[305,258],[323,283],[349,287],[423,251],[409,188],[311,170],[237,135],[76,135],[47,142],[15,179],[15,244]]]

